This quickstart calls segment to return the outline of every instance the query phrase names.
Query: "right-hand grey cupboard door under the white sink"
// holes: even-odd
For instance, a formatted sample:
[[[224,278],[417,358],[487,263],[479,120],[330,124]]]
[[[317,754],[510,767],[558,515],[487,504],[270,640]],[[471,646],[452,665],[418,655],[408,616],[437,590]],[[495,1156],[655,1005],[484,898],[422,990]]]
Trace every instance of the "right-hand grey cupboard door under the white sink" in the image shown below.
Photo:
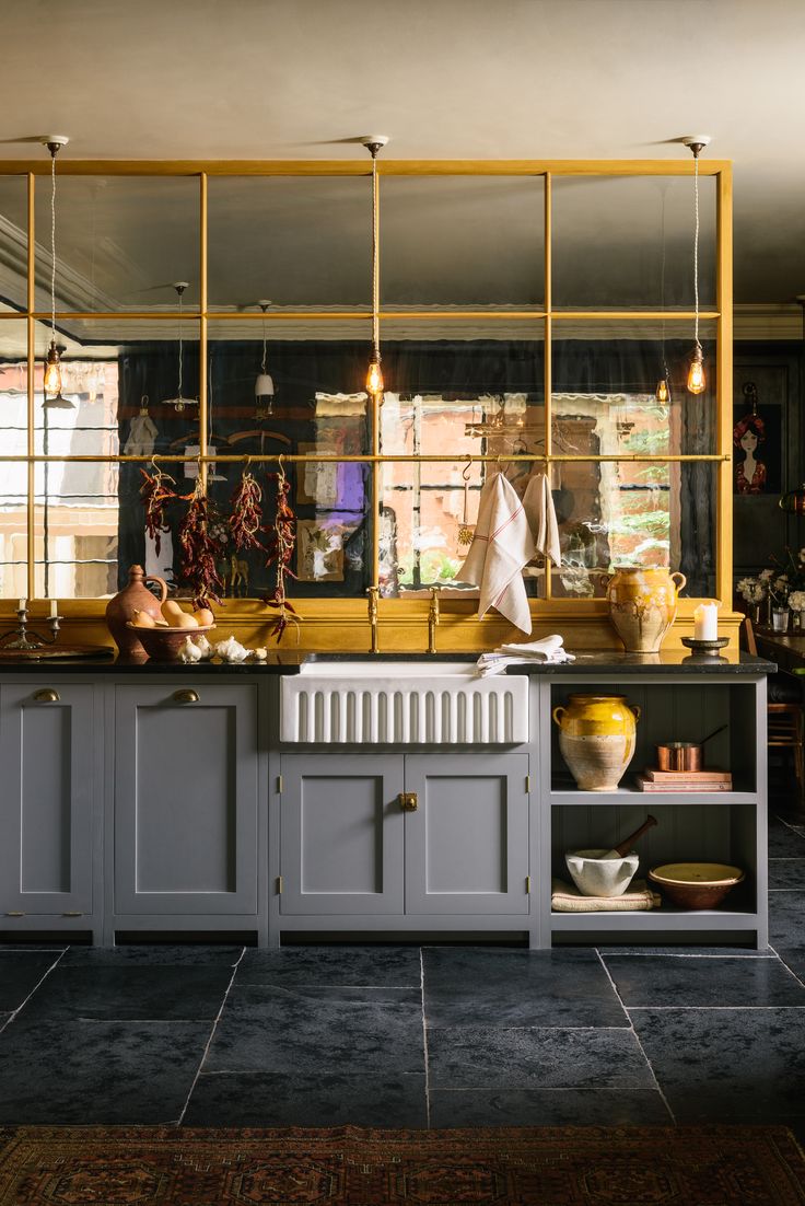
[[[405,760],[407,913],[528,913],[527,754]]]

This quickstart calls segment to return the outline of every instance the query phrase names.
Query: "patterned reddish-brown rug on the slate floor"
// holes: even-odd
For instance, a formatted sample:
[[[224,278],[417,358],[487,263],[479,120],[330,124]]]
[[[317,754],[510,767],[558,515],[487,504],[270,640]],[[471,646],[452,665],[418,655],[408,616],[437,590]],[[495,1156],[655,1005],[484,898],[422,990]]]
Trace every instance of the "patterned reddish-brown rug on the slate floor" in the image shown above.
[[[774,1126],[381,1131],[0,1129],[1,1206],[789,1206]]]

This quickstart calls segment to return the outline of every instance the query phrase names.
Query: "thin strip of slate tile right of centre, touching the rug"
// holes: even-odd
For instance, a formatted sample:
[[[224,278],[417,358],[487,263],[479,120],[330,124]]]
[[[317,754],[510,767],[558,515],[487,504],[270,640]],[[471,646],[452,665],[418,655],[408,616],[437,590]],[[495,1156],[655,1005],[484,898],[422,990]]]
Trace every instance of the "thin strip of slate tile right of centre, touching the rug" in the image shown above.
[[[657,1089],[431,1089],[436,1126],[668,1126]]]

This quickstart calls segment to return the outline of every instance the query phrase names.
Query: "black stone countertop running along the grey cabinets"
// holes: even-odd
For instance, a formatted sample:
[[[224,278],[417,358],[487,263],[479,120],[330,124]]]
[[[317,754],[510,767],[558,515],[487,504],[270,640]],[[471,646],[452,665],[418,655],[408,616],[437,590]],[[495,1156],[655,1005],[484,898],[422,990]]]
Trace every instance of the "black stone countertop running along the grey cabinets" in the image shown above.
[[[171,674],[298,674],[304,662],[475,662],[477,654],[304,654],[292,650],[271,651],[265,662],[133,662],[118,657],[43,657],[35,661],[0,658],[0,673],[5,674],[81,674],[104,678],[107,674],[153,675]],[[592,674],[771,674],[774,662],[750,654],[727,654],[719,657],[703,657],[687,650],[671,649],[659,654],[617,654],[611,649],[586,650],[576,654],[574,662],[533,662],[527,666],[510,666],[509,674],[571,674],[589,678]]]

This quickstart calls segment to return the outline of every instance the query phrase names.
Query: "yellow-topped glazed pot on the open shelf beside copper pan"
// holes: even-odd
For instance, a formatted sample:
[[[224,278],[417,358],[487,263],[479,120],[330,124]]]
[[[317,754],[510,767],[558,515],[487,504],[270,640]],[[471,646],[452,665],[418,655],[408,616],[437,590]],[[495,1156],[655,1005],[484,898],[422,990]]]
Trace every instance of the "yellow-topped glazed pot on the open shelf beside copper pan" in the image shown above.
[[[615,791],[634,756],[640,708],[622,695],[571,695],[553,719],[562,756],[582,791]]]

